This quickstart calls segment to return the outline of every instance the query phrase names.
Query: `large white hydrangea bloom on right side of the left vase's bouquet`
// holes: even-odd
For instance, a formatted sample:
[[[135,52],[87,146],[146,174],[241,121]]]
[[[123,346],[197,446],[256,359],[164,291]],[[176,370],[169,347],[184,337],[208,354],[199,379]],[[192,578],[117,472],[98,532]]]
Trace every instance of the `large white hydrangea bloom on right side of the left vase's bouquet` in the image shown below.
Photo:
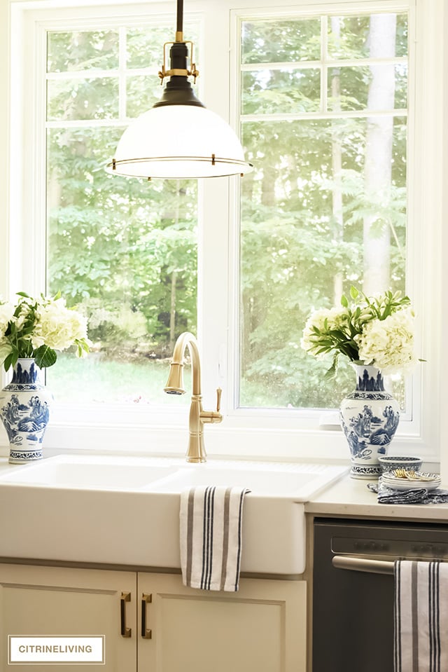
[[[65,350],[76,341],[87,339],[87,318],[76,310],[66,308],[64,299],[56,299],[38,306],[38,321],[31,336],[33,348],[48,345],[54,350]]]

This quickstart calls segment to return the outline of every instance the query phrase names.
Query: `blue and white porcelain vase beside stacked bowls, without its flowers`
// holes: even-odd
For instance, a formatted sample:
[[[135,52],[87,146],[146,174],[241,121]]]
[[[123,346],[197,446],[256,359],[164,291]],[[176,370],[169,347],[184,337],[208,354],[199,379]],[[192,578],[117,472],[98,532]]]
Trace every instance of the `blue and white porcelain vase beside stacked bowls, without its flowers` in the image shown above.
[[[377,479],[378,458],[386,455],[400,420],[399,404],[384,390],[376,366],[352,364],[356,390],[342,400],[340,420],[351,453],[354,479]]]

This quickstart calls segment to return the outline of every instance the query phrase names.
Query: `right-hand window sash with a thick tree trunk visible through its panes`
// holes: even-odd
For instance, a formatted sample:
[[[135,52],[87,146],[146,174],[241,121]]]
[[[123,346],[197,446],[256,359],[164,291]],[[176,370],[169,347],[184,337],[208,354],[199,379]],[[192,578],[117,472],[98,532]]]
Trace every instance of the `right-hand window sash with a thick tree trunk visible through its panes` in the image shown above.
[[[337,408],[353,372],[328,385],[307,316],[405,294],[407,36],[395,12],[242,23],[241,406]]]

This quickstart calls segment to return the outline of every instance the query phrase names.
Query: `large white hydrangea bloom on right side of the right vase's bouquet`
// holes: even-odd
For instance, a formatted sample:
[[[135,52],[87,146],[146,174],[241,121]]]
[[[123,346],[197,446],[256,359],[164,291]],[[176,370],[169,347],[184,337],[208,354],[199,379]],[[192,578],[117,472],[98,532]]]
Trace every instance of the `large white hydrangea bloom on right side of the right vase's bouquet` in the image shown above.
[[[384,320],[367,322],[363,333],[355,336],[360,361],[377,366],[386,374],[410,371],[416,364],[413,322],[411,308],[398,310]]]

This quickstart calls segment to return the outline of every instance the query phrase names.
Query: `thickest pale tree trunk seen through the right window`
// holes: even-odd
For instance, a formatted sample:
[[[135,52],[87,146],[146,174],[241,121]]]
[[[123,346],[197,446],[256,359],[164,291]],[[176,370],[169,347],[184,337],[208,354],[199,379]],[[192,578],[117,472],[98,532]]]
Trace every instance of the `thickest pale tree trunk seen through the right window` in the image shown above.
[[[373,14],[370,18],[370,57],[395,56],[394,14]],[[393,64],[372,64],[367,108],[369,110],[393,109],[395,94],[395,68]],[[365,198],[379,213],[388,205],[391,191],[391,164],[393,117],[367,118],[365,146]],[[384,292],[390,283],[390,229],[380,220],[379,214],[364,218],[364,281],[365,294]]]

